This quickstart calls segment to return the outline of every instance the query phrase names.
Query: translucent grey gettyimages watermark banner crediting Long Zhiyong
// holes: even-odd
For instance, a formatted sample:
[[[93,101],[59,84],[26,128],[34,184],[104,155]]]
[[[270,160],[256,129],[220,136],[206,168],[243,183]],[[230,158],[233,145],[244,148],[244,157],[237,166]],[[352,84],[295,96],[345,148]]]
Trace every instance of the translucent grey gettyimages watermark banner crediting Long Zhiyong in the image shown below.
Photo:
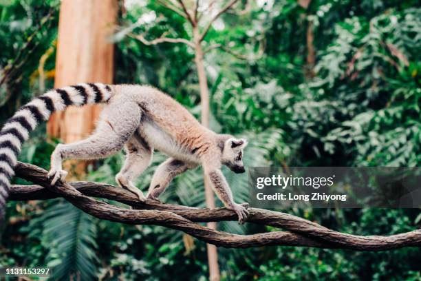
[[[420,208],[421,167],[250,167],[254,207]]]

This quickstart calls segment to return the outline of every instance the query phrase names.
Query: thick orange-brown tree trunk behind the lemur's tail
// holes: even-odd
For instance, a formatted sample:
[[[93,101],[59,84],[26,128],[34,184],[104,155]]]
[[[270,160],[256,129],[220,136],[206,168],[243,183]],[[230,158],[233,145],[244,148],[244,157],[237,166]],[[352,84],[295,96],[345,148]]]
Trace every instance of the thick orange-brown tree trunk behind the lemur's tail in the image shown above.
[[[116,22],[116,0],[63,0],[58,23],[54,87],[76,83],[112,83],[114,46],[107,41]],[[47,134],[72,143],[94,129],[100,106],[69,107],[47,124]],[[83,166],[84,167],[84,166]]]

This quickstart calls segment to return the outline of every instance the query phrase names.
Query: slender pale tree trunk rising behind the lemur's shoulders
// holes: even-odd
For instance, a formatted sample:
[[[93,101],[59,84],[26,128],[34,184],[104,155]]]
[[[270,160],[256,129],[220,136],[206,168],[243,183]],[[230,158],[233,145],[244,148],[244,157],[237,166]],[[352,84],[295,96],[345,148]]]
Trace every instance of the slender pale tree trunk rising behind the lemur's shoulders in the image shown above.
[[[197,67],[197,75],[199,76],[200,105],[202,109],[201,121],[202,125],[204,125],[205,127],[209,127],[209,89],[204,68],[202,45],[200,45],[199,29],[197,28],[197,25],[193,27],[193,39],[195,42],[195,64]],[[206,206],[208,208],[215,208],[215,198],[213,196],[212,187],[210,187],[210,183],[206,175],[204,175],[204,186]],[[207,226],[210,229],[216,229],[217,223],[208,222]],[[209,280],[219,281],[220,276],[217,247],[215,247],[215,245],[213,244],[206,244],[206,246],[208,249]]]

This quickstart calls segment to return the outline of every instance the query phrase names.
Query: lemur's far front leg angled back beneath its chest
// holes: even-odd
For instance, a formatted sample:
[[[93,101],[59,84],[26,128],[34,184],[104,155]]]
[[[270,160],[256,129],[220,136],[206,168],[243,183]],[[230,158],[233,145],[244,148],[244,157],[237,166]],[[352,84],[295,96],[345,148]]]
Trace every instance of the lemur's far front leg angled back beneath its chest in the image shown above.
[[[172,157],[166,159],[158,166],[158,169],[155,170],[155,174],[153,174],[147,198],[158,200],[158,196],[164,192],[175,176],[196,166],[197,165],[184,163],[183,161]]]

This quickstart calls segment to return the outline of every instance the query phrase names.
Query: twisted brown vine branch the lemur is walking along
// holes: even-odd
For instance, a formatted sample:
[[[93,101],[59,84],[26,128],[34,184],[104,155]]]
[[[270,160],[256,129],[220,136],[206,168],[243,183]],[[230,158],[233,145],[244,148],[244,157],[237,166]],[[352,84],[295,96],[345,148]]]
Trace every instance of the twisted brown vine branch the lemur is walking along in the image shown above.
[[[103,183],[74,182],[50,186],[47,171],[18,163],[17,176],[37,185],[14,185],[10,200],[44,200],[64,197],[87,214],[104,220],[130,225],[161,225],[178,229],[210,244],[222,247],[257,247],[288,245],[319,248],[341,248],[356,251],[383,251],[400,247],[420,247],[421,229],[393,236],[356,236],[327,229],[315,222],[276,211],[250,208],[248,222],[270,225],[288,231],[274,231],[247,236],[209,229],[195,222],[237,220],[233,211],[225,208],[198,209],[162,204],[153,200],[139,202],[129,191]],[[116,200],[136,209],[123,209],[88,196]]]

